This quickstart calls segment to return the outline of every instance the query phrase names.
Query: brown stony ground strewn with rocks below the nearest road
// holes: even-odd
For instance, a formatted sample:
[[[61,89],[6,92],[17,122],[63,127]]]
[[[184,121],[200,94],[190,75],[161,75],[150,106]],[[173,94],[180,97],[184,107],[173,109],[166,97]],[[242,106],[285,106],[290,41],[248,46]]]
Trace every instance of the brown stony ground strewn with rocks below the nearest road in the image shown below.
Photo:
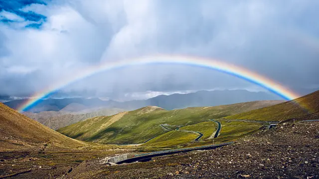
[[[319,179],[319,121],[284,123],[210,151],[108,166],[84,161],[62,178]]]

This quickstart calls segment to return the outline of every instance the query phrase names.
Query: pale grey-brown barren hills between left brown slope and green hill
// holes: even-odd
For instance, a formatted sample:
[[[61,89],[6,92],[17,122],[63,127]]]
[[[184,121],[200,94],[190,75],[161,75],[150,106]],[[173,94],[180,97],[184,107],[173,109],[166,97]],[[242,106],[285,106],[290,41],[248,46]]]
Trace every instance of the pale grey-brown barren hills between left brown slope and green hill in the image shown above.
[[[34,119],[44,124],[45,126],[48,126],[56,130],[58,128],[71,125],[73,123],[76,123],[88,118],[93,118],[97,116],[111,116],[123,111],[125,110],[113,108],[113,109],[100,109],[98,111],[94,111],[94,112],[86,113],[86,114],[77,114],[80,112],[70,113],[70,112],[64,112],[62,110],[59,112],[56,112],[56,111],[43,111],[40,113],[24,112],[23,114],[25,116],[28,116],[31,119]]]

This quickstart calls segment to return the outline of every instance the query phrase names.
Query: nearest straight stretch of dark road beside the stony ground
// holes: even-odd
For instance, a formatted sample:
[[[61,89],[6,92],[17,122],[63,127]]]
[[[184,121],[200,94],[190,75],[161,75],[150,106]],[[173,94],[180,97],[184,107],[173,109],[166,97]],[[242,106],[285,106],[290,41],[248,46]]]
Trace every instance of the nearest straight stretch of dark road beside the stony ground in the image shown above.
[[[125,159],[118,161],[116,164],[123,164],[123,163],[132,163],[136,161],[148,161],[151,160],[152,157],[158,157],[158,156],[164,156],[164,155],[171,155],[181,152],[189,152],[193,150],[209,150],[209,149],[215,149],[218,147],[222,147],[225,145],[232,144],[234,142],[227,142],[227,143],[221,143],[221,144],[215,144],[215,145],[206,145],[206,146],[200,146],[200,147],[191,147],[191,148],[183,148],[183,149],[174,149],[174,150],[164,150],[164,151],[158,151],[158,152],[150,152],[145,154],[138,154],[134,155],[132,158]]]

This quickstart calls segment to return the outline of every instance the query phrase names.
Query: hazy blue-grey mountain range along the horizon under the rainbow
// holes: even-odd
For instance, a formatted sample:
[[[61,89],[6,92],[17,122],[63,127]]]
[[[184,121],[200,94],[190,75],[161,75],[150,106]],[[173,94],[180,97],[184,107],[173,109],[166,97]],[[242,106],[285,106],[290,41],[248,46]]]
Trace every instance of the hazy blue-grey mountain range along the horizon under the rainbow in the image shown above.
[[[65,98],[41,100],[29,112],[39,113],[41,111],[67,111],[76,112],[83,109],[96,108],[120,108],[135,110],[145,106],[158,106],[165,110],[182,109],[187,107],[219,106],[234,103],[243,103],[260,100],[280,100],[281,98],[268,92],[250,92],[247,90],[215,90],[198,91],[188,94],[160,95],[148,100],[133,100],[126,102],[103,101],[98,98]],[[17,109],[19,104],[25,100],[15,100],[4,103]],[[70,106],[69,106],[70,105]]]

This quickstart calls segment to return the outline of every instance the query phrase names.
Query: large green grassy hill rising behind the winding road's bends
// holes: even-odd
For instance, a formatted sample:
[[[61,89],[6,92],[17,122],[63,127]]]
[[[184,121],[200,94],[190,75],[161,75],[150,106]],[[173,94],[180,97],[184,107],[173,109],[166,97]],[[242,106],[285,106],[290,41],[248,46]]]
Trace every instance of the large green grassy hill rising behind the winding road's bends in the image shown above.
[[[207,121],[207,119],[222,118],[277,103],[279,103],[279,101],[257,101],[217,107],[186,108],[173,111],[165,111],[160,108],[155,111],[150,111],[150,108],[153,107],[145,107],[127,112],[114,122],[110,121],[112,121],[113,118],[117,118],[116,115],[111,117],[97,117],[60,128],[57,131],[79,140],[104,144],[142,143],[149,138],[167,132],[167,130],[160,127],[160,124],[191,125]]]

